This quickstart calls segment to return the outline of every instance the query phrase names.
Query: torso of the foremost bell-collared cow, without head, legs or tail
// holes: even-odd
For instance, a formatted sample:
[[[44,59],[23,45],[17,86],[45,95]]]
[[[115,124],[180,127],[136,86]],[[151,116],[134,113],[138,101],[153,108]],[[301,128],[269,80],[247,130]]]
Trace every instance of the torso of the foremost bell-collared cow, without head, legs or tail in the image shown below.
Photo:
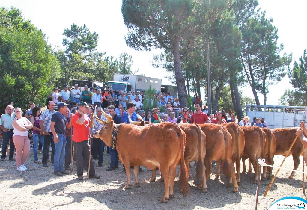
[[[128,159],[131,165],[138,163],[152,170],[163,162],[171,166],[180,160],[180,136],[170,123],[121,124],[117,139],[120,160]]]

